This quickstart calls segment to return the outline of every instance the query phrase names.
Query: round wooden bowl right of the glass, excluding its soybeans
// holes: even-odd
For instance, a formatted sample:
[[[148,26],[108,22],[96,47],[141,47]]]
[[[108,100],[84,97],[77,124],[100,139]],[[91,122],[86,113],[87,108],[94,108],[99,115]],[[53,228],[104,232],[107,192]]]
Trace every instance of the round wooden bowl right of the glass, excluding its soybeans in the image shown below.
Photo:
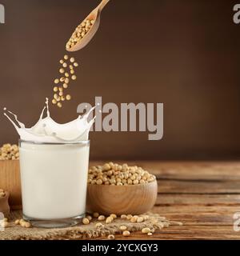
[[[156,202],[157,181],[129,186],[88,185],[86,210],[100,214],[144,214]]]

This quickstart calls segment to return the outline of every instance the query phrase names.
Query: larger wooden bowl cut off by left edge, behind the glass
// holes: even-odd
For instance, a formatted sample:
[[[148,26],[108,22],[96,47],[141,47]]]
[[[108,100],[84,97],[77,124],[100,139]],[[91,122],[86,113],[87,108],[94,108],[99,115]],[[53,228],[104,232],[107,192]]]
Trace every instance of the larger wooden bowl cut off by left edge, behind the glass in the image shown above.
[[[11,209],[22,209],[19,160],[0,160],[0,188],[10,193]]]

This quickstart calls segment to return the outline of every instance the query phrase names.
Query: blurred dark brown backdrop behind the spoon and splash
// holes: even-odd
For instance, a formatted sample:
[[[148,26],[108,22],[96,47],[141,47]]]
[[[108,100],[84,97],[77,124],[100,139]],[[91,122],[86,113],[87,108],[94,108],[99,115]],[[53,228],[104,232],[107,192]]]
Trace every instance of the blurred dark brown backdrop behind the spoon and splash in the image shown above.
[[[0,108],[36,122],[51,96],[66,39],[97,0],[1,0]],[[91,158],[228,159],[240,156],[240,24],[225,1],[111,0],[81,62],[74,96],[58,122],[80,102],[163,102],[164,138],[147,133],[90,134]],[[0,143],[18,135],[0,117]]]

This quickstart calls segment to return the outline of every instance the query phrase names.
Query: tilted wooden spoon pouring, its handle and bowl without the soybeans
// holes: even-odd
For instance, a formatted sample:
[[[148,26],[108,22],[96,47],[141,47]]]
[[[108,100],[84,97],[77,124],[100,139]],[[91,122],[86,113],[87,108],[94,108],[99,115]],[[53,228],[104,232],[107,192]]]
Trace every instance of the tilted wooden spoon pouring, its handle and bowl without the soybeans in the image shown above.
[[[66,49],[68,51],[77,51],[85,47],[90,40],[94,37],[94,34],[96,34],[98,27],[100,25],[100,16],[102,9],[110,0],[102,0],[102,2],[96,7],[91,13],[84,19],[94,20],[93,26],[91,26],[90,30],[86,33],[86,35],[80,39],[75,46],[72,46],[70,49]]]

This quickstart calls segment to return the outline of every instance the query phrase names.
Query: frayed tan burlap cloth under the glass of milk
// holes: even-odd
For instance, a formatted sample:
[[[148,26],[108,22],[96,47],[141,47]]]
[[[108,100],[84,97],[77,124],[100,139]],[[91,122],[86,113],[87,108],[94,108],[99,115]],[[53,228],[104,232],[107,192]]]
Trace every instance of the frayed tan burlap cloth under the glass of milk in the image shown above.
[[[93,219],[89,225],[78,225],[67,228],[24,228],[14,224],[15,219],[22,218],[21,211],[13,211],[10,213],[10,224],[4,230],[0,231],[0,240],[59,240],[59,239],[82,239],[82,238],[99,238],[107,237],[109,234],[121,234],[119,227],[127,226],[130,232],[142,230],[149,227],[154,230],[161,230],[170,225],[182,225],[181,222],[171,222],[158,214],[148,213],[149,219],[142,223],[131,223],[129,220],[117,218],[114,222],[106,224],[101,228],[96,228],[97,219]]]

